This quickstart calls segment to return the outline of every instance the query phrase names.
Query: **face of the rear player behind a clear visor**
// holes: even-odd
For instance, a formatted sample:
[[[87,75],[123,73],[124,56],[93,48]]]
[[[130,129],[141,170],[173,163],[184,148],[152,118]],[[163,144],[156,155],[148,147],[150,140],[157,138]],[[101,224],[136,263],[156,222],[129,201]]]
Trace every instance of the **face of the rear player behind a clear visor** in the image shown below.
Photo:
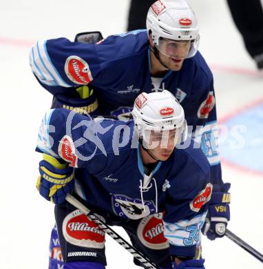
[[[174,41],[171,39],[160,39],[159,57],[162,63],[172,71],[182,68],[182,63],[187,58],[191,48],[191,41]]]

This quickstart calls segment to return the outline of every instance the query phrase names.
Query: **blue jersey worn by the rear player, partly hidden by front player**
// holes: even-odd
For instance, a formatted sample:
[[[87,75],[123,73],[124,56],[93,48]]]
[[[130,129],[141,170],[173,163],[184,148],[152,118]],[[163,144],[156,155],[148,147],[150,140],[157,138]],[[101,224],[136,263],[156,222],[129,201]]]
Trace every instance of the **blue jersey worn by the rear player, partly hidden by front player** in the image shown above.
[[[30,65],[41,85],[54,95],[53,108],[82,108],[123,119],[140,92],[169,90],[180,101],[191,135],[209,160],[213,183],[222,184],[213,76],[207,63],[197,52],[185,59],[180,71],[167,72],[156,85],[149,53],[146,30],[137,30],[97,44],[65,38],[38,41],[31,49]],[[76,88],[82,85],[88,85],[94,95],[77,97]]]

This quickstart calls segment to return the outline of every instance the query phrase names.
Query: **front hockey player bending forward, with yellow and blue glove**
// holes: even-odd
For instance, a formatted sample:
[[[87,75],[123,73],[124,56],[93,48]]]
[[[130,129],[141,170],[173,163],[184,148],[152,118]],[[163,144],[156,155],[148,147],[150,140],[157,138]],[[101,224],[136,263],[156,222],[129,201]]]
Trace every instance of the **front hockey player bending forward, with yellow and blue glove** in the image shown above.
[[[158,268],[204,269],[196,246],[212,194],[209,162],[193,141],[176,147],[187,138],[187,124],[167,90],[139,94],[132,114],[134,121],[93,121],[54,109],[43,118],[37,148],[45,157],[37,188],[57,203],[64,269],[107,264],[104,232],[64,201],[74,187],[76,197],[109,225],[122,226]]]

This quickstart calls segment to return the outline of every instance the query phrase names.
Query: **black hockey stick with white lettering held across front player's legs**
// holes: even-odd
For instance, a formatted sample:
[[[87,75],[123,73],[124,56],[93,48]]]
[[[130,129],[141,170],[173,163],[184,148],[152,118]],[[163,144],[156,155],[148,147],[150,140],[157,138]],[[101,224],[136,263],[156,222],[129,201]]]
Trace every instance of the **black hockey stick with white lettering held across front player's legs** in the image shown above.
[[[139,250],[134,248],[134,246],[131,246],[131,244],[129,244],[127,241],[125,241],[125,239],[123,239],[123,237],[120,237],[120,235],[118,235],[114,230],[112,230],[112,228],[107,226],[106,223],[101,221],[101,219],[98,219],[98,217],[92,215],[92,212],[90,212],[90,210],[88,208],[86,208],[83,205],[83,203],[78,201],[78,199],[76,199],[75,197],[73,197],[70,194],[67,194],[67,197],[65,199],[70,204],[72,204],[72,206],[81,210],[85,215],[88,215],[90,217],[90,219],[92,219],[94,222],[96,222],[98,224],[98,226],[99,226],[99,228],[101,228],[101,230],[106,232],[107,235],[109,235],[115,241],[117,241],[120,244],[120,246],[122,246],[123,248],[128,250],[131,253],[131,255],[133,255],[136,259],[138,259],[138,261],[143,263],[143,265],[146,268],[149,268],[149,269],[156,269],[157,268],[154,263],[152,263],[147,257],[145,257]]]

